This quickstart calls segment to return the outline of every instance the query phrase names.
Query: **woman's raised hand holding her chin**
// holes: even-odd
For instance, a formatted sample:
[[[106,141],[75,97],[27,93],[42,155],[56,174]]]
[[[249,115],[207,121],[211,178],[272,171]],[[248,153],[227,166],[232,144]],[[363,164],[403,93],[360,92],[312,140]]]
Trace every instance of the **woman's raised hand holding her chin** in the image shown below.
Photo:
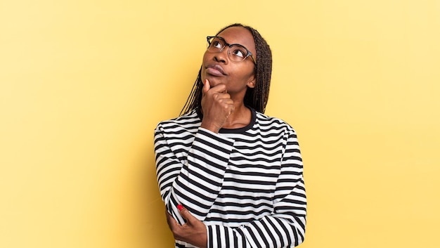
[[[219,133],[219,130],[234,110],[234,102],[226,91],[226,85],[211,88],[208,79],[202,89],[203,119],[200,127]]]

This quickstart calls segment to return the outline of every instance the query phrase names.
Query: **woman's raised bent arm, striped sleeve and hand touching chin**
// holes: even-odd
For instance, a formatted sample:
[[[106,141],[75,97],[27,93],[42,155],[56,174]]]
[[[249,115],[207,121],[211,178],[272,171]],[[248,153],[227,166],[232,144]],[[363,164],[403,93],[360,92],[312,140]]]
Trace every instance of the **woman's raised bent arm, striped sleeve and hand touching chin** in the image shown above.
[[[233,109],[233,100],[226,93],[226,86],[219,84],[211,88],[206,80],[202,94],[204,117],[192,144],[185,143],[188,136],[192,135],[185,129],[179,129],[178,132],[174,126],[168,135],[161,125],[155,130],[160,195],[169,213],[172,213],[180,224],[185,221],[177,214],[178,204],[183,204],[198,219],[204,220],[219,194],[233,140],[220,136],[218,131]],[[188,157],[181,162],[174,151],[186,150],[189,145]]]

